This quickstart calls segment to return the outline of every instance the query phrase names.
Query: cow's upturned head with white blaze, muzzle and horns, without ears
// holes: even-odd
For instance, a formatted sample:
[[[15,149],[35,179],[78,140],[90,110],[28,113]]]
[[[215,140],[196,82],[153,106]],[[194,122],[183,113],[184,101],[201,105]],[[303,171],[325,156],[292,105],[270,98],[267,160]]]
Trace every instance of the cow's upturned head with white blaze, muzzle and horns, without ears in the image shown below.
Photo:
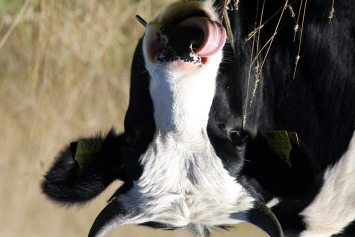
[[[146,25],[125,119],[123,165],[131,183],[100,213],[90,236],[128,223],[203,235],[245,221],[282,236],[241,174],[247,140],[241,114],[214,110],[230,103],[228,85],[220,84],[225,41],[208,1],[172,4]]]

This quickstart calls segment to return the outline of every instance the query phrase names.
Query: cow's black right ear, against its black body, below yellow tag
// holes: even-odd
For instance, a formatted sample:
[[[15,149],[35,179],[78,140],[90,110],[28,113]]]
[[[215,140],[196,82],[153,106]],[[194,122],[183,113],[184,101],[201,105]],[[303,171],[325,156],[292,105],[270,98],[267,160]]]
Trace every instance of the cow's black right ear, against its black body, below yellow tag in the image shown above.
[[[245,171],[255,178],[268,192],[280,197],[303,197],[314,187],[316,172],[312,170],[310,158],[290,139],[287,159],[270,147],[266,136],[257,136],[247,145]]]

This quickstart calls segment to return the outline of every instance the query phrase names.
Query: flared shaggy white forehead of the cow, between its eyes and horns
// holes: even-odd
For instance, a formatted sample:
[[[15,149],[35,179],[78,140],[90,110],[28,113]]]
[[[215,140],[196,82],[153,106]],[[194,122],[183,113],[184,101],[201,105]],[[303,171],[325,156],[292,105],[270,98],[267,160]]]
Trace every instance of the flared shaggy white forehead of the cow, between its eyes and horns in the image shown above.
[[[140,221],[199,232],[237,224],[231,213],[252,208],[254,198],[223,168],[205,131],[195,137],[157,133],[140,162],[140,179],[119,198],[135,207]]]

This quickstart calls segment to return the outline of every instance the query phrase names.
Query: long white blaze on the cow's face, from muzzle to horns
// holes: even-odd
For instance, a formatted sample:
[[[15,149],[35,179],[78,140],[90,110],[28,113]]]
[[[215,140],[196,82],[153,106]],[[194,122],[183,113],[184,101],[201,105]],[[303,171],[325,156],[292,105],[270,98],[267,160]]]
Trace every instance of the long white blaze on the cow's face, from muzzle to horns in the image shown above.
[[[124,222],[167,223],[200,235],[240,223],[230,214],[250,210],[255,199],[223,168],[206,131],[222,52],[202,67],[151,62],[146,51],[145,59],[157,130],[140,157],[142,176],[118,197],[130,213]]]

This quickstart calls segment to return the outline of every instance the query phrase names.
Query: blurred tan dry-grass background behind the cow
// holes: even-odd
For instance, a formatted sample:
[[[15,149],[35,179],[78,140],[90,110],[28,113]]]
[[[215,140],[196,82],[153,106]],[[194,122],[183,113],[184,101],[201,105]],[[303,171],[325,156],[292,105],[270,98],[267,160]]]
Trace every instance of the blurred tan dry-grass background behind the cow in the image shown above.
[[[167,0],[0,0],[0,236],[86,236],[112,184],[62,208],[39,183],[59,149],[81,135],[122,131],[130,63]],[[192,236],[133,225],[108,236]],[[249,224],[214,236],[267,236]]]

